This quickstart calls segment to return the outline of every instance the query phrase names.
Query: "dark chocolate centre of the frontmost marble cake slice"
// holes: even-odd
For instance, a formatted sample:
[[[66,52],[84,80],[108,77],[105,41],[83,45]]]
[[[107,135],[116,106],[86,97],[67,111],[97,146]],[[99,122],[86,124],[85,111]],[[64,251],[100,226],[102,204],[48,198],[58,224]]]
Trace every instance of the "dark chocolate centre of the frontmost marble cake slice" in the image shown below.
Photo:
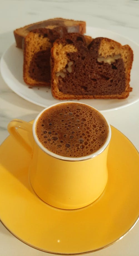
[[[76,52],[68,52],[72,72],[66,70],[64,78],[58,77],[59,91],[72,95],[113,95],[125,91],[125,66],[120,57],[111,64],[98,62],[102,38],[86,46],[84,37],[70,37],[64,44],[74,44]],[[65,67],[66,68],[66,67]]]

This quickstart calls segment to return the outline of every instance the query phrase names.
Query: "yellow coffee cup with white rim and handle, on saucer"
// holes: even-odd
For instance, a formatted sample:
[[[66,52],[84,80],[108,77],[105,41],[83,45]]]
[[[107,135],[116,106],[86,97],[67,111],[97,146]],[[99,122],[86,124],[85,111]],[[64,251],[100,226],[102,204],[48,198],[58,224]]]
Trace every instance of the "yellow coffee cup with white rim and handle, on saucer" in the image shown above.
[[[62,102],[62,104],[64,103],[70,104],[70,102]],[[104,145],[93,154],[82,157],[66,157],[55,154],[46,149],[39,141],[36,135],[36,123],[44,111],[58,104],[61,103],[42,110],[33,125],[19,119],[12,120],[8,124],[8,131],[21,146],[32,154],[29,178],[36,195],[51,206],[61,209],[78,209],[94,202],[106,187],[108,180],[107,154],[111,128],[105,119],[108,125],[107,139]],[[100,112],[98,113],[101,115]],[[19,135],[16,128],[27,131],[30,137],[33,136],[33,147]]]

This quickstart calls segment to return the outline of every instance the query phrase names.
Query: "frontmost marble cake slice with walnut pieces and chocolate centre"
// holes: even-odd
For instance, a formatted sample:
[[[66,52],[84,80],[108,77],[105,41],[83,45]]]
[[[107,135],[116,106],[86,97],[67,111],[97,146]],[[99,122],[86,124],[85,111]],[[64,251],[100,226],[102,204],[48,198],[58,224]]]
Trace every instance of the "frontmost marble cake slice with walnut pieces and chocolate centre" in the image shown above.
[[[77,33],[54,42],[51,49],[51,90],[54,98],[128,97],[133,51],[108,38],[86,40]]]

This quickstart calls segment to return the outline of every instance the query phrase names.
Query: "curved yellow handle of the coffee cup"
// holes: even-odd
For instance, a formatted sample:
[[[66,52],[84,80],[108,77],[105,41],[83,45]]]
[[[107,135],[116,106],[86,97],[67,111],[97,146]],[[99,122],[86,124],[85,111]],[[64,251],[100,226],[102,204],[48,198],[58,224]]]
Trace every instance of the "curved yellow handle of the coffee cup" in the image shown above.
[[[25,139],[19,134],[18,129],[29,132],[32,136],[32,124],[25,122],[20,119],[13,119],[8,124],[8,132],[9,134],[16,139],[27,151],[29,154],[33,152],[33,148],[25,141]]]

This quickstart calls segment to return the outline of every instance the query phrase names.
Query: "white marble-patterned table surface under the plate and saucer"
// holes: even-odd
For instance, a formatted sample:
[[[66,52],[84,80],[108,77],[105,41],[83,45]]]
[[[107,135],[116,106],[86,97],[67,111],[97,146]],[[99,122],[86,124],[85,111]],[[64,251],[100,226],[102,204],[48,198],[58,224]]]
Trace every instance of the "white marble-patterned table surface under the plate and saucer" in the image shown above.
[[[138,0],[0,1],[0,57],[14,42],[15,28],[54,17],[85,20],[88,26],[112,30],[139,44]],[[139,84],[139,78],[137,82]],[[42,109],[16,95],[0,75],[1,143],[8,136],[7,125],[11,119],[19,118],[29,121],[34,119]],[[103,112],[103,115],[139,150],[139,102],[119,110]],[[0,223],[1,256],[45,256],[47,254],[22,243]],[[91,255],[139,255],[139,222],[123,239]]]

